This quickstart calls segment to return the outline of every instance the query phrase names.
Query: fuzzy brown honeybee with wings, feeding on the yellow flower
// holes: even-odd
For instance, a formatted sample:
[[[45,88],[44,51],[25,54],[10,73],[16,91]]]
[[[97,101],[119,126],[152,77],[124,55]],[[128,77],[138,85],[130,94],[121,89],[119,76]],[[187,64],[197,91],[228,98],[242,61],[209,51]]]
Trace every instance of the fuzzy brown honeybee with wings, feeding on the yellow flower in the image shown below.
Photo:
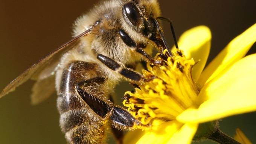
[[[0,97],[29,79],[36,81],[34,104],[56,90],[60,127],[71,144],[103,143],[107,123],[118,130],[141,125],[109,98],[122,79],[149,80],[134,70],[141,60],[162,63],[150,56],[154,48],[169,48],[158,23],[160,15],[157,0],[99,3],[75,21],[73,39],[24,71]],[[122,136],[114,134],[122,143]]]

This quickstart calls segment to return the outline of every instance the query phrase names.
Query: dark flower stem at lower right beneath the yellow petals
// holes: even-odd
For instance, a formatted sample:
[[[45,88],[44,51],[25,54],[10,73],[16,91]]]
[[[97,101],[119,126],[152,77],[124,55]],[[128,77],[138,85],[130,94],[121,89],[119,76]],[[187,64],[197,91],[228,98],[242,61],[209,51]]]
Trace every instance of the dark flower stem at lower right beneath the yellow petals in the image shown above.
[[[226,135],[225,133],[221,132],[221,130],[216,129],[208,139],[218,142],[219,144],[241,144],[240,142],[236,141],[235,139],[231,138],[230,136]]]

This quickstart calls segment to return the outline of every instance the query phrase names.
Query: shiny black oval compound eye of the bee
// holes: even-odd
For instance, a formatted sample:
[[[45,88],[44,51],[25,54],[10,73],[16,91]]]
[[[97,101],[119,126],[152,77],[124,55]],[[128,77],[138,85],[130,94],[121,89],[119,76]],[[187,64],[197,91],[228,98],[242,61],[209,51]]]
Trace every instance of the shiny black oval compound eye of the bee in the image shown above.
[[[123,15],[136,27],[141,23],[140,11],[133,3],[123,5]]]

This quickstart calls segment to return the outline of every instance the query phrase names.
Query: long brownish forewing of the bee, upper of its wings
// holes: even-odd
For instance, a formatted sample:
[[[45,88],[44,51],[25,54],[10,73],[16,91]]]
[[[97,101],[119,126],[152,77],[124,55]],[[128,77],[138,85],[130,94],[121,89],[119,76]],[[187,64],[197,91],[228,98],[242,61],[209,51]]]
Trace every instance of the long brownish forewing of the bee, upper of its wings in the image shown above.
[[[92,29],[92,28],[91,28]],[[24,71],[20,76],[18,76],[16,79],[14,79],[9,85],[7,85],[2,93],[0,94],[0,98],[4,95],[8,94],[9,92],[12,92],[26,82],[29,79],[34,80],[43,80],[47,76],[47,73],[49,74],[49,71],[51,71],[51,68],[54,67],[56,64],[56,61],[59,61],[59,58],[68,50],[72,49],[79,43],[79,39],[81,37],[84,37],[91,33],[91,29],[86,30],[85,32],[81,33],[80,35],[76,36],[75,38],[71,39],[66,44],[59,47],[57,50],[51,52],[49,55],[41,59],[36,64],[32,65],[30,68],[28,68],[26,71]],[[45,72],[45,73],[42,73]],[[38,86],[37,86],[38,87]],[[34,89],[34,88],[33,88]]]

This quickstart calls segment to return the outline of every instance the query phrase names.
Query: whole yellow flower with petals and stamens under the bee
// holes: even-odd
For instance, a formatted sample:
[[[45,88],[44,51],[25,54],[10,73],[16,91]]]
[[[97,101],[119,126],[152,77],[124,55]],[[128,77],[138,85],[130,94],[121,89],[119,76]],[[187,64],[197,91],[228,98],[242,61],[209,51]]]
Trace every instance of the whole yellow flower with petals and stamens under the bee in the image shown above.
[[[165,51],[148,64],[152,79],[126,92],[123,105],[146,127],[136,144],[190,144],[198,124],[256,111],[256,54],[245,56],[256,41],[256,24],[233,39],[204,69],[211,33],[206,26],[185,32],[180,49]]]

